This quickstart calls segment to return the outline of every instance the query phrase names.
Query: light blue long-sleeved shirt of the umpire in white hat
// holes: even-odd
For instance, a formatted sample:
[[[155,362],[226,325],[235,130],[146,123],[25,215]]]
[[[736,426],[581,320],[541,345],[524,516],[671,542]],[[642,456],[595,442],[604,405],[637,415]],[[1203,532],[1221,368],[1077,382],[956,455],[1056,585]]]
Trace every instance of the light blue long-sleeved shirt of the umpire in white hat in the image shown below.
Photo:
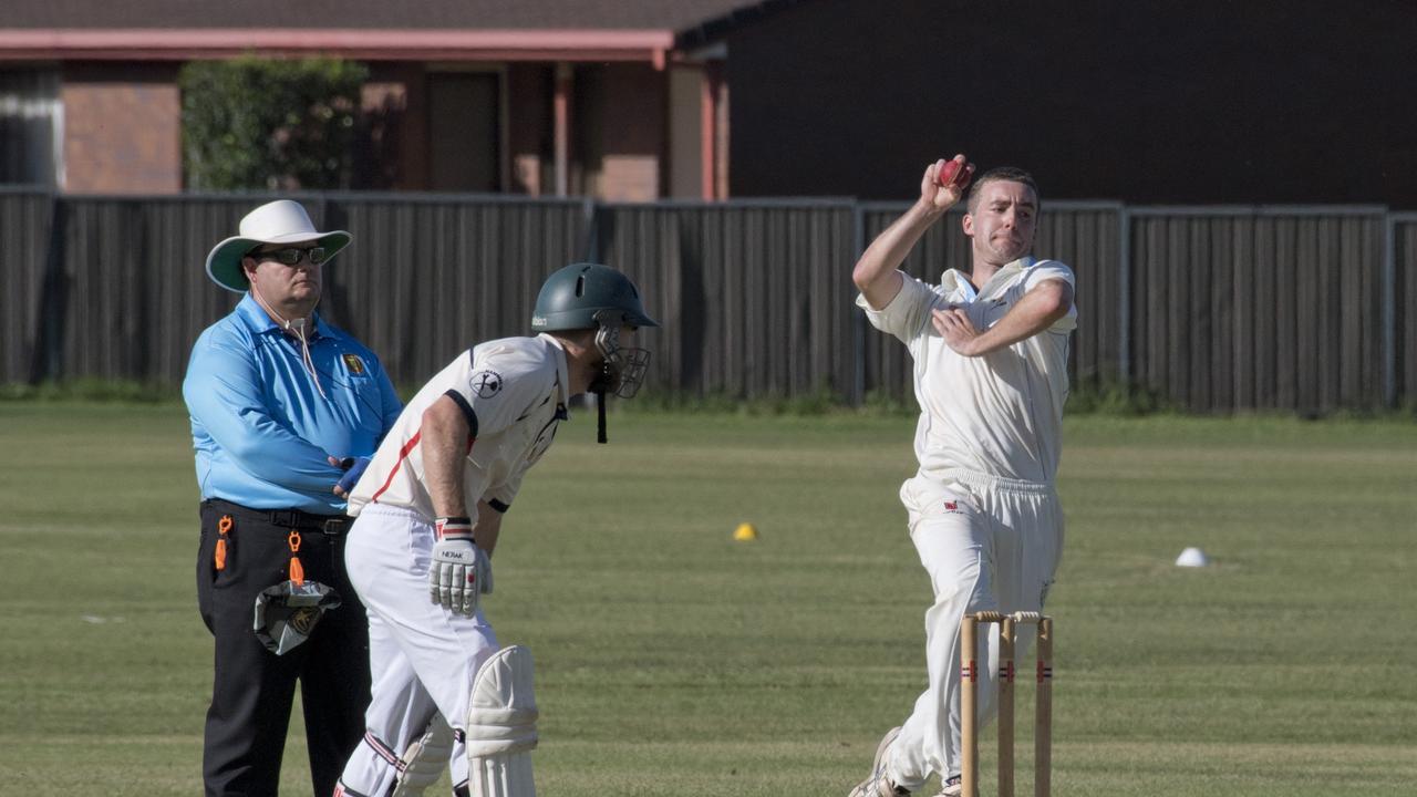
[[[197,338],[181,393],[201,498],[252,509],[344,512],[343,472],[326,457],[370,457],[402,404],[384,366],[315,315],[307,333],[320,390],[286,335],[247,294]]]

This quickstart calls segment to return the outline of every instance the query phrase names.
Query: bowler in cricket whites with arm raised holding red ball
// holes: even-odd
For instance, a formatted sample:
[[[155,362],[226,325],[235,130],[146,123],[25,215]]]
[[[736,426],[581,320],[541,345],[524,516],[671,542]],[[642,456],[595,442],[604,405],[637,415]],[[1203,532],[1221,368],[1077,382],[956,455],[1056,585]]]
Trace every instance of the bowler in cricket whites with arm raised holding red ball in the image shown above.
[[[966,611],[1041,611],[1063,550],[1054,479],[1076,281],[1067,265],[1032,257],[1033,177],[1003,167],[975,180],[962,220],[966,269],[947,269],[938,285],[900,271],[964,197],[972,173],[964,155],[927,166],[920,199],[852,274],[866,318],[914,360],[920,468],[900,498],[934,603],[925,610],[928,685],[910,718],[881,739],[850,797],[910,794],[932,774],[941,797],[959,794],[959,623]],[[982,720],[996,710],[996,631],[985,645]]]

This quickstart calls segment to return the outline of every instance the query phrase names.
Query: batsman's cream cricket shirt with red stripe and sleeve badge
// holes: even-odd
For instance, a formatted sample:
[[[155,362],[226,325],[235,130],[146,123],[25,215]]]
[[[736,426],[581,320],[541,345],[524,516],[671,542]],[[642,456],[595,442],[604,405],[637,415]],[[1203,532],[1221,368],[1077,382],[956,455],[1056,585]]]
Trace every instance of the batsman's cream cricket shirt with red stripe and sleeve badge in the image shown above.
[[[506,512],[527,468],[546,454],[560,421],[570,416],[565,350],[550,335],[489,340],[459,356],[404,407],[350,494],[347,512],[367,503],[404,506],[434,519],[424,484],[419,434],[424,410],[448,396],[462,407],[470,438],[462,472],[473,520],[478,501]]]

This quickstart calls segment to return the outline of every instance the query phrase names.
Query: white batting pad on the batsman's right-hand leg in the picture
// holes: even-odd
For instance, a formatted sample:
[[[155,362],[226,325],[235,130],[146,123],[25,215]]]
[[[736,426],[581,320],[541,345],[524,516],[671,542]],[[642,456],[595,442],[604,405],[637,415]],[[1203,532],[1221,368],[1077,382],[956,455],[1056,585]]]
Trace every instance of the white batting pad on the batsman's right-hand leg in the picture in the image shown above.
[[[534,797],[531,750],[537,708],[531,651],[521,645],[492,654],[472,679],[468,705],[468,784],[472,797]]]

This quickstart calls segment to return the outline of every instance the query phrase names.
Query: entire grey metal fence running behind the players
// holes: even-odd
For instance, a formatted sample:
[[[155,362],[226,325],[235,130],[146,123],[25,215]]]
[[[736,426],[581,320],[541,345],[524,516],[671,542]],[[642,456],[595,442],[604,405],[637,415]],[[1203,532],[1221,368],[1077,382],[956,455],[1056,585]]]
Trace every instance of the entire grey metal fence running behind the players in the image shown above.
[[[0,191],[6,381],[177,383],[237,295],[207,251],[273,196]],[[904,204],[594,204],[489,196],[300,194],[354,234],[320,313],[418,384],[472,343],[527,332],[547,274],[599,260],[663,328],[653,384],[690,396],[904,397],[908,353],[866,329],[850,269]],[[903,268],[965,264],[955,211]],[[1125,208],[1056,203],[1036,251],[1078,275],[1070,374],[1195,411],[1328,413],[1417,400],[1417,214],[1372,207]]]

